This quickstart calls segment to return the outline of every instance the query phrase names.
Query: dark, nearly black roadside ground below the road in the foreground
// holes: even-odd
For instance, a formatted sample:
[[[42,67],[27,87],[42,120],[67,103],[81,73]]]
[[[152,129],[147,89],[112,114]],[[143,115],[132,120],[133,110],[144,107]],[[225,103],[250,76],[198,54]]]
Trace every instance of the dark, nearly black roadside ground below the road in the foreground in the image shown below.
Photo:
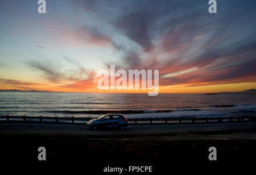
[[[104,133],[104,131],[99,131]],[[82,164],[85,168],[147,165],[154,170],[187,165],[253,164],[255,130],[201,131],[173,134],[82,135],[1,133],[1,165]],[[38,160],[38,148],[46,147],[47,160]],[[217,148],[217,161],[209,161],[208,148]]]

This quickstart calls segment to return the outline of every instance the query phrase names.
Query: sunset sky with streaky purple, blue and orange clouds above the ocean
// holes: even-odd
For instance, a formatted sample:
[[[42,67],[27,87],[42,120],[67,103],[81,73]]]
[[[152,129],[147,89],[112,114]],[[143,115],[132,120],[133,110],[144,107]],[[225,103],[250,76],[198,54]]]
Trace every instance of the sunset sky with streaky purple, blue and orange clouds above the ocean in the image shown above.
[[[256,1],[0,0],[0,89],[100,91],[100,69],[158,69],[160,93],[256,88]]]

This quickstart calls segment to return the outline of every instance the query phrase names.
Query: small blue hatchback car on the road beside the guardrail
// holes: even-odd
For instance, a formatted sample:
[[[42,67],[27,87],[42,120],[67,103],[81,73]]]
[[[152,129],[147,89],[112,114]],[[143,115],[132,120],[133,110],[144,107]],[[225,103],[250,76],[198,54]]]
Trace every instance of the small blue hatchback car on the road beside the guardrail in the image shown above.
[[[117,127],[120,130],[125,130],[128,126],[127,118],[121,114],[106,114],[97,119],[91,119],[87,122],[89,129],[97,130],[103,127]]]

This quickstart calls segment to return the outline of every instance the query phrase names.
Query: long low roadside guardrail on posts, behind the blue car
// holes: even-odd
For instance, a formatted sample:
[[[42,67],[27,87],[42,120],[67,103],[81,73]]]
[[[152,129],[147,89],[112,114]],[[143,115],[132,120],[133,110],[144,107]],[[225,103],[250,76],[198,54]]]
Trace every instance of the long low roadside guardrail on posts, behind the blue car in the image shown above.
[[[33,117],[33,116],[0,116],[0,122],[56,122],[56,123],[84,123],[97,117]],[[143,123],[200,123],[200,122],[245,122],[256,121],[254,116],[243,117],[179,117],[179,118],[128,118],[129,124]]]

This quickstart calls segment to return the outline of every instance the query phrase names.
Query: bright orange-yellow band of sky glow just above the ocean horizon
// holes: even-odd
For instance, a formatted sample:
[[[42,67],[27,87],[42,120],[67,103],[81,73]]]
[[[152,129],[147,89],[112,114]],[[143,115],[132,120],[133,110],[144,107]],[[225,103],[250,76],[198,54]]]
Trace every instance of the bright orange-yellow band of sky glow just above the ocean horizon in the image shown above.
[[[48,86],[27,86],[26,88],[18,88],[16,86],[6,86],[0,84],[0,89],[19,89],[19,90],[38,90],[38,91],[52,91],[52,92],[77,92],[77,93],[148,93],[148,89],[127,89],[127,90],[99,90],[96,87],[56,87]],[[197,86],[189,86],[189,84],[180,84],[175,86],[160,86],[159,93],[208,93],[208,92],[238,92],[247,89],[256,89],[256,82],[253,83],[227,83],[227,84],[209,84]]]

